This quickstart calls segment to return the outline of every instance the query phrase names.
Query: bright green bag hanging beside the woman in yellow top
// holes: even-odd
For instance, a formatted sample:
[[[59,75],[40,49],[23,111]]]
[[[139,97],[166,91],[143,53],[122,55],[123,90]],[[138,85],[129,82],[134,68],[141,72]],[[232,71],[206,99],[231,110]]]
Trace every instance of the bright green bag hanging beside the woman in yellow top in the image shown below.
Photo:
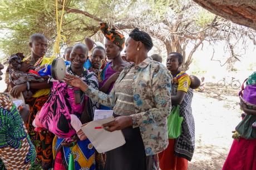
[[[168,138],[178,138],[181,134],[181,123],[183,117],[180,117],[180,105],[173,106],[171,113],[167,120]]]

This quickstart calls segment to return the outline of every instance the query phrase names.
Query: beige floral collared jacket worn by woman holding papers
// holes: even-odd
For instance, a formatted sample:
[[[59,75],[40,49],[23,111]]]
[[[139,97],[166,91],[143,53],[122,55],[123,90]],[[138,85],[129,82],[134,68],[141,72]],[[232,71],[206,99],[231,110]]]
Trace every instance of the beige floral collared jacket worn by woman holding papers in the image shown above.
[[[133,70],[131,70],[133,69]],[[168,146],[167,117],[171,110],[171,75],[163,64],[145,59],[139,65],[126,66],[110,94],[88,86],[86,95],[105,106],[116,105],[116,86],[129,71],[136,114],[131,115],[133,127],[140,127],[146,156],[164,151]]]

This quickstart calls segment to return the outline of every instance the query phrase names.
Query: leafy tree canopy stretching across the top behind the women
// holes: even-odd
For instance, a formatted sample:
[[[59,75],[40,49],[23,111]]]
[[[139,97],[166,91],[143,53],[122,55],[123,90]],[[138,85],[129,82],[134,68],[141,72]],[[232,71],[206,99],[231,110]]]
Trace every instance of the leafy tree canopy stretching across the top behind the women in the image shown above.
[[[59,16],[62,4],[58,0]],[[28,38],[33,33],[45,34],[51,47],[57,32],[55,7],[54,0],[0,0],[0,29],[6,32],[0,39],[4,54],[20,51],[28,55]],[[145,30],[154,38],[159,53],[183,54],[184,70],[204,42],[226,40],[230,58],[239,60],[234,50],[237,40],[243,39],[245,44],[248,38],[255,39],[254,30],[216,17],[190,0],[66,0],[61,32],[67,38],[65,44],[82,42],[85,37],[102,40],[98,23],[101,20],[127,32],[135,27]]]

